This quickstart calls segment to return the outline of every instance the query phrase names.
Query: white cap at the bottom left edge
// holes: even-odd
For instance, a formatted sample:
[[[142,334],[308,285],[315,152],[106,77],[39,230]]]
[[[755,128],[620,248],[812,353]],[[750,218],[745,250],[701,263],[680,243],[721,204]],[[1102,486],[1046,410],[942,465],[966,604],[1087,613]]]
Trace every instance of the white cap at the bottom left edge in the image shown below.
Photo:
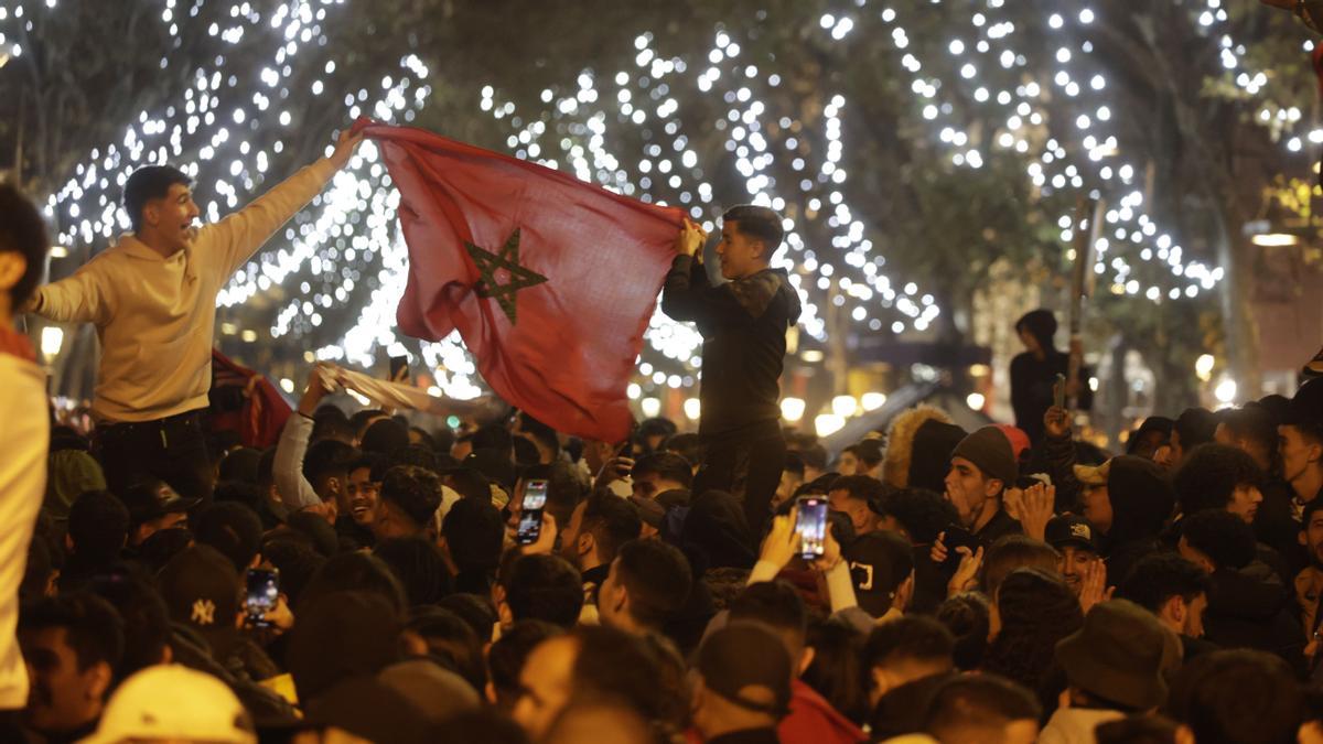
[[[97,732],[81,744],[134,739],[257,744],[253,720],[214,676],[179,665],[149,666],[119,686]]]

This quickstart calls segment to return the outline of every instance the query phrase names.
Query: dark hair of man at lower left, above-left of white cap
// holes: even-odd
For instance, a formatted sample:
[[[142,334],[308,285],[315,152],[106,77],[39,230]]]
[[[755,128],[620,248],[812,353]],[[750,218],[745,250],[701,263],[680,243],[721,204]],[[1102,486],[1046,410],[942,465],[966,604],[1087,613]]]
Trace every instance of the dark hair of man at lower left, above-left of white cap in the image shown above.
[[[19,633],[65,629],[65,643],[78,659],[78,670],[106,662],[119,673],[124,657],[124,621],[106,600],[90,592],[44,597],[19,612]]]

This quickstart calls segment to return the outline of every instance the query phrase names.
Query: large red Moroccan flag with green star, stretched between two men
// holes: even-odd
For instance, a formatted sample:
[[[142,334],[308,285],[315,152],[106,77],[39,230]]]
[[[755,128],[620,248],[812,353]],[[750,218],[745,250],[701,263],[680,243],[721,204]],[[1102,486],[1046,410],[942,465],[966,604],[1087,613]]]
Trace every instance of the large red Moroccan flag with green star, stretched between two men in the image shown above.
[[[478,371],[558,432],[617,442],[684,212],[434,134],[368,123],[400,189],[400,328],[459,328]]]

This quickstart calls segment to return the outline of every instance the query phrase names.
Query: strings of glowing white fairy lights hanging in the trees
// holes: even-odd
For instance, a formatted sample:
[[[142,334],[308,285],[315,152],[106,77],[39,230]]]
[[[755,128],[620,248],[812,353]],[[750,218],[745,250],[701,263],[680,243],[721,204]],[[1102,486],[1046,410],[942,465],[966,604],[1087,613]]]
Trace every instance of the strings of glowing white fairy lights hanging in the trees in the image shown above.
[[[1094,60],[1095,12],[1060,4],[1039,29],[1053,44],[1035,49],[1005,0],[959,1],[968,5],[968,25],[925,44],[906,29],[912,19],[875,0],[852,0],[824,13],[815,33],[830,44],[889,46],[897,70],[909,75],[914,115],[931,128],[933,142],[947,150],[953,165],[979,169],[990,158],[1013,155],[1025,162],[1025,177],[1043,197],[1072,192],[1105,197],[1110,208],[1094,246],[1094,271],[1109,279],[1113,293],[1166,302],[1213,289],[1222,269],[1189,259],[1179,238],[1146,210],[1139,169],[1118,148],[1115,103],[1109,99],[1105,65]],[[1245,66],[1244,46],[1224,28],[1229,21],[1222,0],[1172,1],[1188,8],[1200,33],[1218,40],[1228,79],[1245,95],[1261,97],[1266,73]],[[196,61],[192,85],[164,110],[142,111],[122,139],[93,148],[53,189],[45,212],[57,226],[58,245],[99,248],[127,230],[119,191],[134,168],[148,163],[179,164],[204,195],[204,220],[220,220],[274,183],[269,169],[294,144],[306,97],[343,98],[347,118],[414,120],[427,103],[433,74],[419,57],[402,57],[397,69],[382,70],[377,85],[337,75],[331,37],[345,3],[163,0],[159,23],[172,38],[205,32],[221,50]],[[21,38],[33,32],[38,13],[57,13],[61,7],[56,0],[0,1],[0,56],[21,57]],[[886,33],[863,38],[857,29],[864,24],[881,24]],[[787,213],[786,249],[777,265],[791,273],[804,306],[802,330],[811,339],[827,338],[828,303],[859,331],[926,331],[942,308],[918,282],[888,273],[864,210],[849,203],[849,143],[843,136],[849,101],[843,93],[824,94],[826,107],[814,126],[791,111],[774,111],[767,101],[775,97],[769,94],[783,85],[774,65],[750,58],[741,46],[747,40],[729,28],[718,28],[712,41],[703,57],[677,57],[644,33],[635,38],[631,69],[582,70],[577,79],[542,91],[537,103],[524,103],[525,110],[501,99],[499,81],[475,90],[475,102],[508,127],[507,147],[515,155],[647,201],[679,204],[709,232],[725,204],[750,201]],[[1044,64],[1040,54],[1052,62]],[[183,64],[177,57],[163,53],[161,66]],[[1049,77],[1037,79],[1043,70]],[[695,95],[703,97],[703,109],[693,105]],[[717,101],[724,110],[706,123],[726,136],[725,151],[734,156],[746,193],[714,193],[721,164],[704,160],[693,143],[697,132],[683,123],[695,119],[683,114]],[[964,106],[1003,124],[990,134],[966,131]],[[1263,101],[1257,111],[1257,120],[1290,152],[1323,143],[1323,130],[1310,128],[1298,109]],[[802,147],[810,140],[812,147]],[[255,343],[259,334],[239,328],[226,311],[261,295],[278,307],[263,334],[273,343],[324,338],[319,330],[329,310],[349,308],[355,322],[343,335],[335,334],[340,338],[333,343],[310,348],[308,360],[370,365],[381,348],[402,352],[394,308],[407,275],[407,252],[397,205],[376,148],[365,143],[327,191],[222,290],[222,334]],[[807,232],[810,221],[816,222],[814,232]],[[1062,213],[1056,222],[1069,245],[1080,228],[1076,217]],[[1140,271],[1143,265],[1158,270]],[[695,384],[701,338],[692,327],[658,312],[646,339],[631,397],[655,401],[667,388]],[[458,336],[423,343],[421,352],[434,372],[435,393],[458,398],[482,393]]]

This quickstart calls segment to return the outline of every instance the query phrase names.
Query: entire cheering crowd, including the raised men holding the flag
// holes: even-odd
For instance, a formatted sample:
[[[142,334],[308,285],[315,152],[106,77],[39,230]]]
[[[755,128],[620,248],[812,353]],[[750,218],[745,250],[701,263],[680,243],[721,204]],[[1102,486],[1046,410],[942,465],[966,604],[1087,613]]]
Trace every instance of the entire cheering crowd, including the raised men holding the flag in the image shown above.
[[[216,293],[356,144],[201,229],[143,168],[134,232],[42,287],[0,187],[0,741],[1323,741],[1323,381],[1113,457],[1039,384],[1039,311],[1019,426],[919,406],[830,457],[781,426],[799,301],[766,208],[724,216],[728,283],[676,241],[697,433],[411,426],[318,365],[242,446]],[[52,424],[19,312],[95,324],[94,430]]]

